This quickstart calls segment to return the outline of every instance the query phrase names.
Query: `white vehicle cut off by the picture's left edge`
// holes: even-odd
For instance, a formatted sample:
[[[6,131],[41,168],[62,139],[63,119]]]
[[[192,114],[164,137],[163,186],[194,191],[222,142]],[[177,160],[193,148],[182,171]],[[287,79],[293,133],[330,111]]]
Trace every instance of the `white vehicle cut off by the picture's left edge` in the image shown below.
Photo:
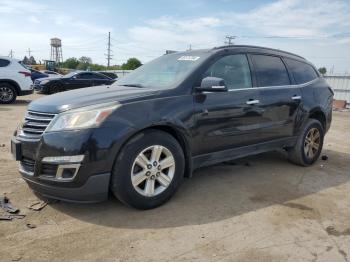
[[[0,57],[0,103],[9,104],[17,96],[33,93],[31,72],[17,59]]]

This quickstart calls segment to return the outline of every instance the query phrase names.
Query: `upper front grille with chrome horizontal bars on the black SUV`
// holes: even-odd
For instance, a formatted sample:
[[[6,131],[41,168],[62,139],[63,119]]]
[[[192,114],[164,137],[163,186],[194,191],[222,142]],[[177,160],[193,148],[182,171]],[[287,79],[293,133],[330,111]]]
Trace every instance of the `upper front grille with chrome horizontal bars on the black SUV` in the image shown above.
[[[20,136],[40,138],[55,114],[27,111]]]

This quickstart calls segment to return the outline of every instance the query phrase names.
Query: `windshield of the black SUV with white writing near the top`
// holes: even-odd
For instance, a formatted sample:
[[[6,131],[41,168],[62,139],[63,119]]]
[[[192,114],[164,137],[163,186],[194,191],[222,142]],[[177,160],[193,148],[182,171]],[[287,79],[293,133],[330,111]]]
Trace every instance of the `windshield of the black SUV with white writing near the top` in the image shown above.
[[[210,53],[189,52],[163,55],[129,73],[115,85],[173,88],[197,68]]]

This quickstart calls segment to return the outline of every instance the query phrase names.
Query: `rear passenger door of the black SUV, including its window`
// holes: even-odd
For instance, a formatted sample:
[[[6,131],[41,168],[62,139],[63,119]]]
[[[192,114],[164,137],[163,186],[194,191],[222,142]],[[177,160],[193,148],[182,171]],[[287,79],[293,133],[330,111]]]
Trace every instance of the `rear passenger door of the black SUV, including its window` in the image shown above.
[[[292,136],[301,103],[301,89],[292,85],[286,65],[279,56],[250,54],[259,90],[262,122],[260,137],[273,140]]]

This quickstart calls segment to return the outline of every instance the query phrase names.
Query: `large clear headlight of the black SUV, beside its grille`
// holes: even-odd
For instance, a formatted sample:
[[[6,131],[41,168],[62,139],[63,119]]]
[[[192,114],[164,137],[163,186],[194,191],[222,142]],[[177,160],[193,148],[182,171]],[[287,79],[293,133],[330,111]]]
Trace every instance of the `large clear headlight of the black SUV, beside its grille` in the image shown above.
[[[97,127],[118,107],[120,104],[109,103],[58,114],[46,132]]]

